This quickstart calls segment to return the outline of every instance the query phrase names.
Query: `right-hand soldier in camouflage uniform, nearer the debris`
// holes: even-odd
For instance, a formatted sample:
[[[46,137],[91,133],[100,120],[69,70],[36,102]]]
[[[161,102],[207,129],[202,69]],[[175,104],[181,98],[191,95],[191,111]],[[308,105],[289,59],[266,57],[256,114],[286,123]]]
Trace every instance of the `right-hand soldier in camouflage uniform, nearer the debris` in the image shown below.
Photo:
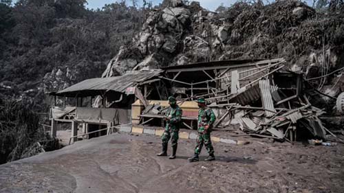
[[[206,146],[206,150],[208,150],[209,157],[204,159],[204,161],[213,161],[215,160],[214,156],[214,148],[211,144],[211,129],[213,124],[216,120],[215,114],[213,110],[206,106],[206,101],[204,98],[200,98],[197,100],[198,106],[200,110],[198,111],[198,136],[197,136],[197,146],[195,148],[195,155],[189,158],[190,162],[199,161],[198,155],[202,150],[203,144]]]

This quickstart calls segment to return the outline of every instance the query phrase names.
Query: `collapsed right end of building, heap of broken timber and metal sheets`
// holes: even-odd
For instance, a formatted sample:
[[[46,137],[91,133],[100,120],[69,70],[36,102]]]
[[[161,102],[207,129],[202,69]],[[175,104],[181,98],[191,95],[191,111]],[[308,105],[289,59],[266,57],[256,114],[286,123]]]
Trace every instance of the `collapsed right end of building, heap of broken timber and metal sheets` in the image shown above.
[[[325,111],[310,103],[303,88],[303,75],[279,71],[284,63],[285,60],[255,69],[256,72],[244,78],[241,72],[232,71],[228,85],[231,93],[207,99],[212,102],[211,107],[228,110],[219,116],[219,122],[230,115],[231,123],[239,124],[248,135],[290,142],[297,140],[298,133],[311,134],[316,139],[326,139],[327,134],[336,137],[319,118]],[[242,81],[247,83],[239,87]]]

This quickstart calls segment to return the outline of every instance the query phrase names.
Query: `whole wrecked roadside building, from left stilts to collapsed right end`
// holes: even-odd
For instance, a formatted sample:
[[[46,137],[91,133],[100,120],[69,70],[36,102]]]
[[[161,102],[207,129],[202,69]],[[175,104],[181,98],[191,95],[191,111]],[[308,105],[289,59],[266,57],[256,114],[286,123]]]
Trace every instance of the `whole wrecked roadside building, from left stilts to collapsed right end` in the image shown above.
[[[314,93],[325,95],[305,82],[302,73],[288,71],[283,58],[127,71],[122,76],[84,80],[50,93],[54,96],[51,135],[56,136],[59,122],[72,123],[72,141],[77,140],[78,125],[86,136],[106,135],[124,124],[163,126],[169,106],[166,99],[175,95],[187,129],[197,128],[195,100],[203,97],[217,116],[214,129],[237,124],[250,136],[291,143],[302,136],[336,137],[321,122],[325,111],[310,103]],[[63,102],[57,107],[56,98],[72,98],[75,103],[67,106]]]

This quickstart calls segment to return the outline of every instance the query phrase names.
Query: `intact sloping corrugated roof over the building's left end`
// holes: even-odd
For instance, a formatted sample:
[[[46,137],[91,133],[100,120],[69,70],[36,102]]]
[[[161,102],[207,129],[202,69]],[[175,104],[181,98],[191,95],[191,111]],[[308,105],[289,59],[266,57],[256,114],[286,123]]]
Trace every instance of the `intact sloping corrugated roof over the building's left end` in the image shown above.
[[[72,87],[58,91],[56,95],[98,95],[98,93],[94,91],[117,91],[125,93],[128,87],[135,87],[140,82],[159,76],[161,72],[161,70],[128,71],[122,76],[87,79],[78,84],[74,84]]]

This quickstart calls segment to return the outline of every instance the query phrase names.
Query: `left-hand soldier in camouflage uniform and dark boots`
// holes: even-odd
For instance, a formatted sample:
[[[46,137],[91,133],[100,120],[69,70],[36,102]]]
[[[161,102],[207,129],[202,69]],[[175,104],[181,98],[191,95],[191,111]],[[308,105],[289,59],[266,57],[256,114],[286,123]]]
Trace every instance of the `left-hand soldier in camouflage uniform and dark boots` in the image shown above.
[[[166,112],[166,126],[164,134],[162,135],[162,152],[158,156],[167,155],[167,145],[171,139],[172,155],[169,159],[175,159],[175,152],[177,152],[179,128],[182,122],[182,109],[177,105],[177,101],[173,96],[169,97],[170,107]]]

